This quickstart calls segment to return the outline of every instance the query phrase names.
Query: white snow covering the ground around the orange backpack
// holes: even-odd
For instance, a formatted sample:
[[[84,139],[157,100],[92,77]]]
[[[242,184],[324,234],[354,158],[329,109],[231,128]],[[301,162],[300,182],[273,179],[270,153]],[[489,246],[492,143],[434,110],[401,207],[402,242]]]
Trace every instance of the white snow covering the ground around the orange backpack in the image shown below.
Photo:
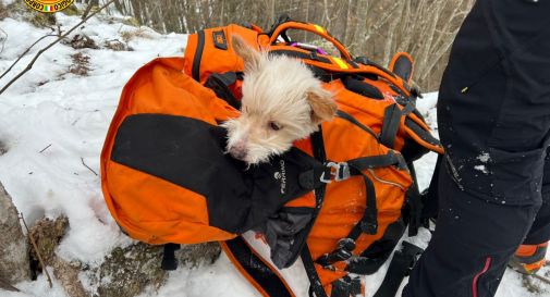
[[[58,13],[62,29],[80,22],[77,16]],[[5,18],[0,28],[7,33],[4,49],[0,53],[0,72],[3,72],[34,40],[49,33],[21,21]],[[137,32],[129,45],[133,51],[113,51],[102,47],[108,40],[127,37]],[[101,195],[99,153],[120,91],[130,76],[156,57],[182,55],[185,35],[160,35],[148,28],[124,25],[119,17],[91,18],[78,32],[91,37],[99,49],[73,49],[58,44],[38,59],[33,70],[0,96],[0,143],[8,152],[0,156],[0,181],[11,194],[15,206],[32,223],[44,215],[65,214],[70,231],[62,240],[58,255],[69,260],[99,263],[117,246],[125,246],[130,238],[120,233],[111,219]],[[53,40],[47,38],[34,47],[7,77],[3,86],[21,71],[41,47]],[[86,76],[71,73],[71,55],[89,57]],[[436,94],[419,101],[421,112],[435,127]],[[435,154],[417,163],[421,186],[430,180]],[[89,170],[89,166],[91,170]],[[429,232],[424,231],[415,243],[426,246]],[[292,272],[296,280],[304,280]],[[367,290],[372,294],[383,270],[367,279]],[[498,297],[549,296],[529,293],[522,277],[508,271]],[[535,281],[536,282],[536,281]],[[297,283],[300,285],[300,283]],[[540,285],[545,287],[543,285]],[[56,283],[52,289],[40,275],[35,282],[17,284],[23,293],[0,289],[1,297],[50,296],[65,297]],[[305,285],[304,285],[305,287]],[[305,289],[304,289],[305,292]],[[212,265],[171,272],[168,283],[146,296],[259,296],[234,270],[223,255]]]

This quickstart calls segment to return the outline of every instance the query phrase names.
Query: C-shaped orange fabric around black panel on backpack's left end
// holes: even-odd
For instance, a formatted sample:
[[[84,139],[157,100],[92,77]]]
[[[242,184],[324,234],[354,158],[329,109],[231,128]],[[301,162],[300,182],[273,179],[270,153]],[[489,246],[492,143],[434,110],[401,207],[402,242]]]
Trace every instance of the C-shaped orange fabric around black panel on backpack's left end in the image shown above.
[[[239,114],[182,67],[181,58],[156,59],[136,72],[122,91],[101,152],[101,187],[109,211],[131,237],[149,244],[235,236],[209,226],[205,197],[110,160],[117,129],[131,114],[185,115],[211,124]]]

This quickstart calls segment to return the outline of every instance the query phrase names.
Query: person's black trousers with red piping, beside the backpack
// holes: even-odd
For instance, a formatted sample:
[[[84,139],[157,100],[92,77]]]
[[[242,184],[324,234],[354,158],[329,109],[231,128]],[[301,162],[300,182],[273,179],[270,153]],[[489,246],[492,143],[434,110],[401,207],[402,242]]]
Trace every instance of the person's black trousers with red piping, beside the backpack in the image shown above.
[[[439,94],[433,237],[404,297],[494,296],[522,244],[550,239],[550,1],[478,0]]]

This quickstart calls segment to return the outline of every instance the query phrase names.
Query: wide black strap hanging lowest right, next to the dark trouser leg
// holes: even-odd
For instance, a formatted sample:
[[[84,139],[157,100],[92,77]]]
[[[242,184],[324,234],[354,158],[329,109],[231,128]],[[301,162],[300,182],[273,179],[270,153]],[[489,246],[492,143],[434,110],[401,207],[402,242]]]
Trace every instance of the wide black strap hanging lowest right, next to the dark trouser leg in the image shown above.
[[[394,297],[403,279],[408,275],[423,251],[424,249],[411,243],[403,242],[403,248],[395,250],[382,284],[374,297]]]

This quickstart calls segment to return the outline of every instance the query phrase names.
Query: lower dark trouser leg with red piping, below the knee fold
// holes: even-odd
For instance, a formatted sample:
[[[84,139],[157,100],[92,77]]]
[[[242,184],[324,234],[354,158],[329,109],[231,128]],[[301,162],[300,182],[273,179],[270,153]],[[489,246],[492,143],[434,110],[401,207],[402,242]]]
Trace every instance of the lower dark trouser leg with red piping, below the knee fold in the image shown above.
[[[460,189],[444,164],[439,188],[436,232],[403,296],[493,296],[538,206],[510,207],[480,200]]]

